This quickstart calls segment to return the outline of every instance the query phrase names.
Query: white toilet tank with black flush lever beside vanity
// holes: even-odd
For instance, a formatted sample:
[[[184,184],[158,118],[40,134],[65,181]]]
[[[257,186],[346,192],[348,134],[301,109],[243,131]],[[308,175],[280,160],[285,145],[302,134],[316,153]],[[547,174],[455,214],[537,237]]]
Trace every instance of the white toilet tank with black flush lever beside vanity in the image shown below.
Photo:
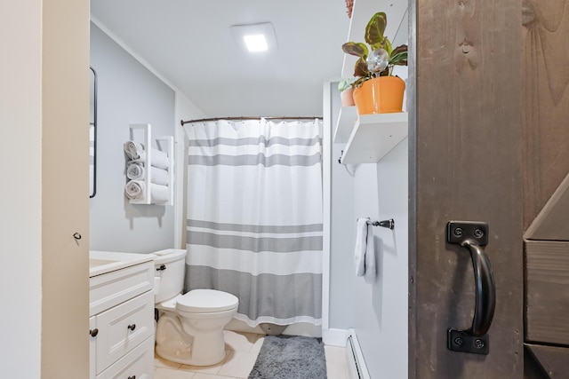
[[[162,303],[181,293],[184,288],[186,250],[165,249],[154,253],[154,302]]]

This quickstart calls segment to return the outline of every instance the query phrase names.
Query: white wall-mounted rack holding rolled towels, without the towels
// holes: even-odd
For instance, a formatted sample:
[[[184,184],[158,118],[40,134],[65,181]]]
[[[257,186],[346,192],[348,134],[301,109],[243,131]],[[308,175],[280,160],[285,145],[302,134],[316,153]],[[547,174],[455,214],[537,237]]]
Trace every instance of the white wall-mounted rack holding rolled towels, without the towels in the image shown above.
[[[143,199],[129,199],[131,204],[156,204],[152,202],[150,195],[150,168],[152,166],[152,125],[149,123],[131,123],[129,125],[130,138],[135,142],[144,145],[146,154],[144,170],[144,184],[146,191]],[[170,192],[167,202],[160,202],[157,205],[174,204],[174,138],[172,136],[157,137],[156,147],[158,150],[168,154],[168,189]]]

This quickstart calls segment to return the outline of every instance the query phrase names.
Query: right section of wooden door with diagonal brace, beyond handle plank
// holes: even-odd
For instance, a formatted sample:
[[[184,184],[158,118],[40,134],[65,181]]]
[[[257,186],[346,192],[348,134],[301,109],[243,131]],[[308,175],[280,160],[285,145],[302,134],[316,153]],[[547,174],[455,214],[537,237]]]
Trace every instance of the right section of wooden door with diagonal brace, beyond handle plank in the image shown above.
[[[569,1],[525,0],[526,377],[569,375]]]

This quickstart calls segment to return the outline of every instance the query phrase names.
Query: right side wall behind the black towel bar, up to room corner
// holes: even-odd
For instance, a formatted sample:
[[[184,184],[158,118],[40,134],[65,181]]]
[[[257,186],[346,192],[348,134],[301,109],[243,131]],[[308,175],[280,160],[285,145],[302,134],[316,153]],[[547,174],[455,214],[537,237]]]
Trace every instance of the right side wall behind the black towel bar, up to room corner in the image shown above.
[[[356,217],[393,218],[393,231],[373,228],[377,281],[354,283],[354,328],[373,378],[407,377],[407,138],[377,164],[356,170]]]

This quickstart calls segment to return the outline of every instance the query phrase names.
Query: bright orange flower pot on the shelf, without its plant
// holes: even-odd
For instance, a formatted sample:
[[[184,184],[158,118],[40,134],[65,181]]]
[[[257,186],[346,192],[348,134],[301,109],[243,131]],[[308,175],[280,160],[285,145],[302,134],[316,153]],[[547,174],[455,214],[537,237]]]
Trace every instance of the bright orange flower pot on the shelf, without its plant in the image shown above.
[[[398,76],[380,76],[354,90],[357,114],[402,112],[405,81]]]

